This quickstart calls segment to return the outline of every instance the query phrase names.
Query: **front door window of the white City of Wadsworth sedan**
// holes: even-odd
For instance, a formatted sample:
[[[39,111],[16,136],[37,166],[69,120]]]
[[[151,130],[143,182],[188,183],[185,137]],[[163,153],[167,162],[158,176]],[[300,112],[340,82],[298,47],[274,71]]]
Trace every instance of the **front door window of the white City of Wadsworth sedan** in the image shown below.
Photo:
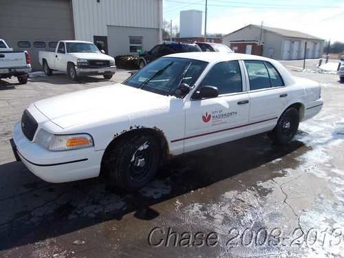
[[[202,86],[215,86],[219,95],[242,92],[241,72],[238,61],[217,63],[202,80]]]

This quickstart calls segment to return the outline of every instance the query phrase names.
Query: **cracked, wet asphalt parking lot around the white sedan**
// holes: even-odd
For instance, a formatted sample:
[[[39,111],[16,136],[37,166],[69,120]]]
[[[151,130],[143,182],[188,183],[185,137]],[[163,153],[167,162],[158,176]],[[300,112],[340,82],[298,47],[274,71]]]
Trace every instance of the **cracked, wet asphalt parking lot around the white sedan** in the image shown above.
[[[71,83],[64,74],[36,74],[27,85],[0,80],[0,256],[342,257],[344,84],[334,74],[297,72],[303,61],[283,64],[321,83],[325,101],[288,147],[259,135],[181,155],[136,193],[101,178],[43,182],[15,162],[9,141],[30,103],[118,83],[129,72],[111,82]],[[197,233],[206,239],[200,246]]]

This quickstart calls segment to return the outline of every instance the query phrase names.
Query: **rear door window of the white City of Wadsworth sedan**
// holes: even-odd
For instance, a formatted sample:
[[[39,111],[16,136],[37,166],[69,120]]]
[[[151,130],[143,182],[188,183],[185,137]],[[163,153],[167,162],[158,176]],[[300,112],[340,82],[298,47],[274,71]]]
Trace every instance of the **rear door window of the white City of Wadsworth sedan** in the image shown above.
[[[250,90],[270,88],[268,69],[264,61],[245,61],[248,78],[250,79]]]

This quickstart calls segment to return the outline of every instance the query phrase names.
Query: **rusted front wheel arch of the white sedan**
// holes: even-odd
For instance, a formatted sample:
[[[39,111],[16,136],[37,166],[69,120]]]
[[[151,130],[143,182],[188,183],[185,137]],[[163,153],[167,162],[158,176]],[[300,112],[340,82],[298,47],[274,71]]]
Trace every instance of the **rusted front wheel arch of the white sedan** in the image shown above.
[[[161,151],[162,151],[162,161],[166,160],[166,158],[169,157],[169,144],[164,136],[164,133],[158,129],[158,128],[138,128],[138,129],[131,129],[130,131],[125,131],[123,133],[120,133],[119,135],[116,135],[114,140],[112,140],[105,149],[105,152],[103,154],[102,162],[100,165],[100,175],[103,175],[104,173],[104,161],[107,160],[107,157],[109,155],[109,151],[114,148],[120,140],[125,140],[132,138],[134,135],[151,135],[155,139],[158,140]]]

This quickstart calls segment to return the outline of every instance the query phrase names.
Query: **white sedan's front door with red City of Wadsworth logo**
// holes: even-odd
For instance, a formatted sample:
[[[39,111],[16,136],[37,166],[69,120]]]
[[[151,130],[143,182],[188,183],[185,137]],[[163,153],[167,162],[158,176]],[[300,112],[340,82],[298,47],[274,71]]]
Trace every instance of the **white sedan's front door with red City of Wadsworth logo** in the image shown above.
[[[250,101],[243,69],[238,61],[216,63],[198,85],[217,87],[219,96],[199,100],[193,94],[186,103],[185,152],[246,135]]]

